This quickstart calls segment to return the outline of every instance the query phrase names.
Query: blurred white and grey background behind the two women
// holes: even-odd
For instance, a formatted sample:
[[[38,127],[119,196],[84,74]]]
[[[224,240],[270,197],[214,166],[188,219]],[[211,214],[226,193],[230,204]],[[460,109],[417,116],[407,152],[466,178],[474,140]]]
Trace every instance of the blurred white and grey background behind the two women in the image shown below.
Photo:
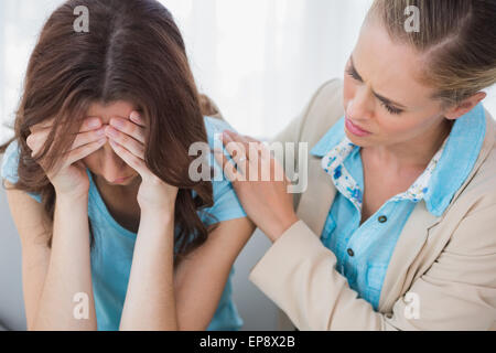
[[[64,1],[0,0],[0,142],[11,125],[31,51]],[[274,136],[325,81],[343,77],[371,0],[163,0],[186,42],[202,93],[240,132]],[[496,89],[486,108],[496,116]],[[0,190],[0,330],[25,329],[21,250]],[[235,301],[245,330],[276,330],[278,310],[248,281],[269,247],[257,233],[238,258]]]

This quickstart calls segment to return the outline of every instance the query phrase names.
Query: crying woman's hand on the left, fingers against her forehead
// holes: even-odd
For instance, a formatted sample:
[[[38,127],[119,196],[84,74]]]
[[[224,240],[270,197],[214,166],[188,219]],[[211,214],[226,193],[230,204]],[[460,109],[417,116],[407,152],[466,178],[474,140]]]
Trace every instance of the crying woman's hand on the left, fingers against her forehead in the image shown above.
[[[45,145],[54,119],[33,126],[26,143],[35,158]],[[83,197],[88,195],[89,179],[86,174],[86,167],[83,159],[97,151],[107,142],[105,127],[99,118],[85,120],[69,151],[64,153],[57,164],[47,170],[43,160],[39,161],[40,167],[45,171],[46,176],[52,182],[57,196],[68,195],[72,197]],[[52,152],[52,151],[50,151]],[[51,153],[48,153],[51,154]]]

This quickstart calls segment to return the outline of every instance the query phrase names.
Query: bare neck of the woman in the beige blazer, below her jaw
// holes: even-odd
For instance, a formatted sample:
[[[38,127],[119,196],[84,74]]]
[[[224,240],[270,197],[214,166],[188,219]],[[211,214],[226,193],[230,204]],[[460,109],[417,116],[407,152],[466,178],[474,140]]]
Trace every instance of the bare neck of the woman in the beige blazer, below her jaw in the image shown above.
[[[369,153],[385,165],[396,165],[398,170],[427,168],[444,140],[450,136],[453,121],[442,119],[429,132],[407,142],[369,148]]]

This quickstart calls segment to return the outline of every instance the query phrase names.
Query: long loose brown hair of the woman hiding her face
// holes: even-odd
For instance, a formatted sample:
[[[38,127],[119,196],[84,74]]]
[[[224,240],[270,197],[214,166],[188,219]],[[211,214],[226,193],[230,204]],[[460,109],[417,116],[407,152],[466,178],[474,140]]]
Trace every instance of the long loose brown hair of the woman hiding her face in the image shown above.
[[[89,10],[89,33],[74,30],[74,9]],[[36,163],[53,168],[75,140],[91,103],[126,100],[147,121],[145,163],[180,189],[175,207],[177,260],[202,245],[209,231],[197,211],[213,205],[211,182],[193,182],[193,142],[207,142],[204,115],[213,111],[198,94],[185,45],[171,13],[154,0],[69,0],[44,25],[32,53],[14,122],[20,148],[17,190],[39,193],[53,222],[55,191]],[[204,108],[204,109],[202,109]],[[43,152],[31,158],[30,128],[55,118]],[[54,137],[63,138],[54,138]],[[9,143],[0,147],[4,152]],[[196,192],[193,197],[192,191]],[[89,220],[88,220],[89,222]],[[91,227],[90,227],[91,229]],[[52,231],[50,231],[52,232]],[[91,232],[93,235],[93,232]],[[53,234],[50,234],[51,246]]]

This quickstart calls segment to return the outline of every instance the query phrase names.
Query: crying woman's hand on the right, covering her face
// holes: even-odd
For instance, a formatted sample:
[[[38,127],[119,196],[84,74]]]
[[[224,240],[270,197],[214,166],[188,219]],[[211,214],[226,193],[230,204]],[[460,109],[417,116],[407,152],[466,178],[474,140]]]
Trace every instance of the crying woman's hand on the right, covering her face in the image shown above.
[[[138,203],[143,210],[159,210],[174,214],[179,189],[153,174],[144,162],[145,125],[137,111],[129,119],[112,118],[106,135],[114,151],[141,175]]]

